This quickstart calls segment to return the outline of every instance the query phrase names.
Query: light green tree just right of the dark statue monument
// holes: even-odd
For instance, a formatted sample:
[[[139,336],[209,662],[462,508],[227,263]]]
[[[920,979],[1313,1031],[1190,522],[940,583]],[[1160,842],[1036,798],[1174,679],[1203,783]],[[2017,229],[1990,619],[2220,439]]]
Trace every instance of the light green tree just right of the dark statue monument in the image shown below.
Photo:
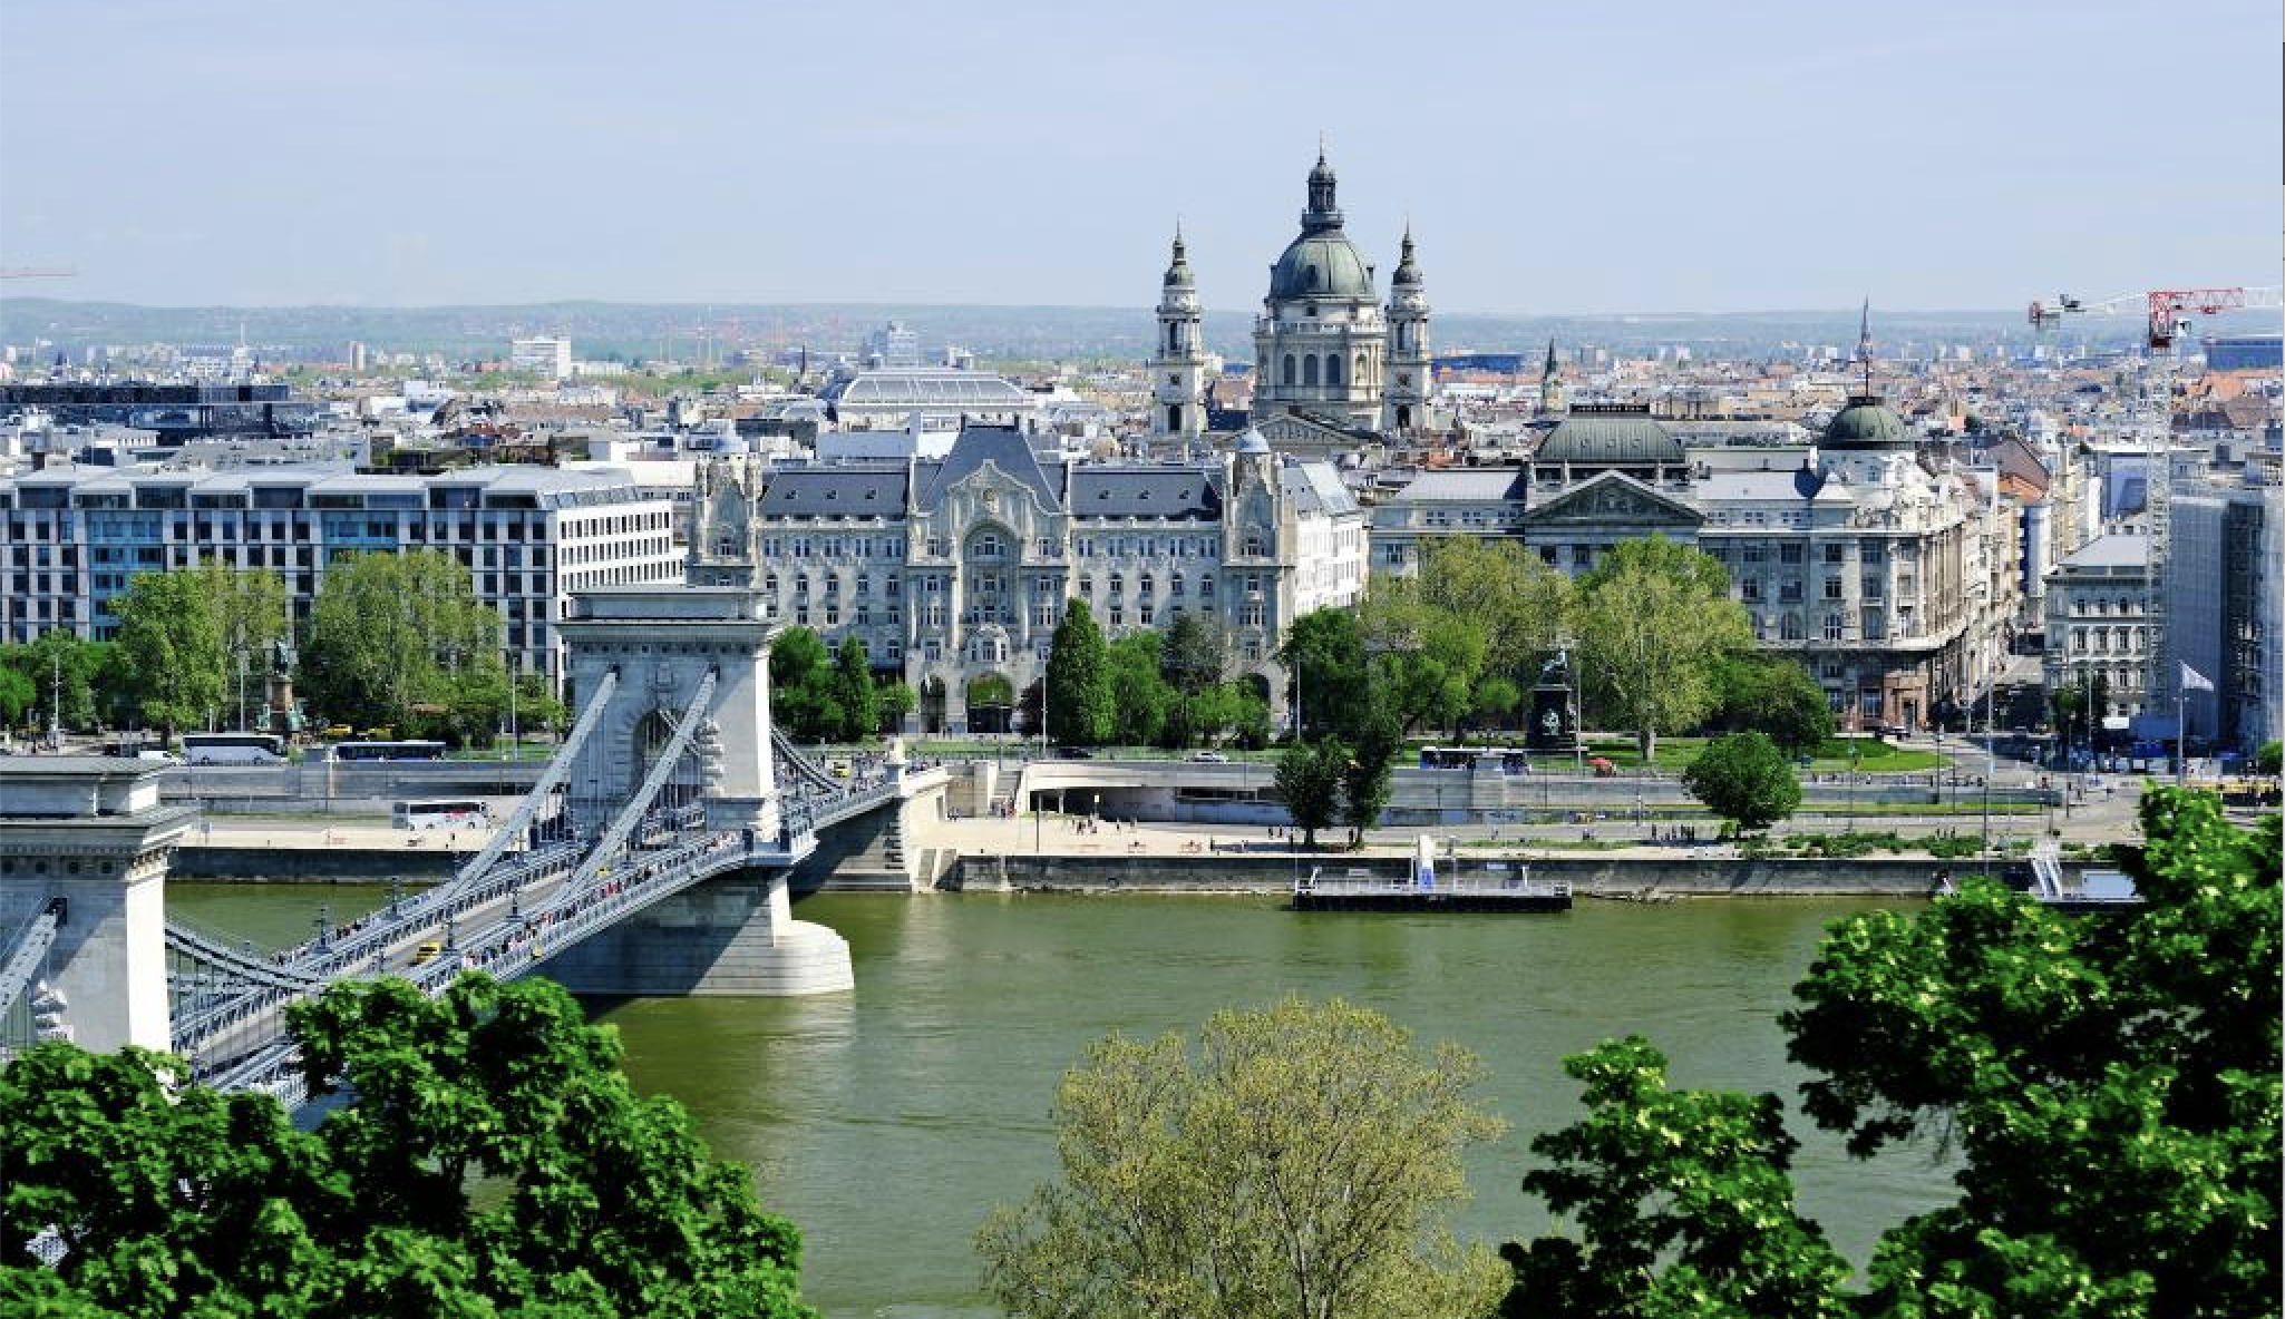
[[[1645,764],[1659,733],[1705,719],[1711,662],[1753,646],[1721,561],[1663,536],[1613,545],[1579,577],[1574,616],[1588,694],[1634,730]]]

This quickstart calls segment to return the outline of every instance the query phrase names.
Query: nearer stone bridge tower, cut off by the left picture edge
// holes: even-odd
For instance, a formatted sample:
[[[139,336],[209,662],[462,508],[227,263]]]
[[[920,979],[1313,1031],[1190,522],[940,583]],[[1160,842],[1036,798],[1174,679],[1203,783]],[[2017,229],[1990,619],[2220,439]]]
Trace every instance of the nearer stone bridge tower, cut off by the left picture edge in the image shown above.
[[[167,860],[197,810],[160,806],[158,769],[0,758],[0,1015],[46,981],[80,1047],[171,1045]]]

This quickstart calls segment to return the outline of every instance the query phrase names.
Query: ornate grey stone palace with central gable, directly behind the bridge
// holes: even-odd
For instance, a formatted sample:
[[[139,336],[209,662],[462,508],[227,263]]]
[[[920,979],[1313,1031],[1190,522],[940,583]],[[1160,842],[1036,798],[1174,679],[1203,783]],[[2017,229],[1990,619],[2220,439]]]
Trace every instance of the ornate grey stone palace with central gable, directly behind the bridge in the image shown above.
[[[1181,463],[1042,456],[971,424],[944,459],[706,468],[690,582],[761,589],[829,646],[859,637],[921,698],[921,733],[1012,723],[1005,694],[1047,673],[1067,600],[1108,637],[1200,612],[1284,707],[1284,628],[1364,591],[1364,511],[1325,463],[1245,436]]]

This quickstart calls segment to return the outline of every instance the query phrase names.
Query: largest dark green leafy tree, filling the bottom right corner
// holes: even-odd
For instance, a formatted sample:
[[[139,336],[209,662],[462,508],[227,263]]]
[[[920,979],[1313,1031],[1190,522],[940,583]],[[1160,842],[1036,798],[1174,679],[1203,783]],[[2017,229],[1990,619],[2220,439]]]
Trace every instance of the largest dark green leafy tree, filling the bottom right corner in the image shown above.
[[[1785,1015],[1853,1155],[1942,1130],[1956,1203],[1887,1232],[1881,1314],[2269,1314],[2278,1301],[2278,817],[2143,794],[2143,908],[1972,881],[1835,926]]]

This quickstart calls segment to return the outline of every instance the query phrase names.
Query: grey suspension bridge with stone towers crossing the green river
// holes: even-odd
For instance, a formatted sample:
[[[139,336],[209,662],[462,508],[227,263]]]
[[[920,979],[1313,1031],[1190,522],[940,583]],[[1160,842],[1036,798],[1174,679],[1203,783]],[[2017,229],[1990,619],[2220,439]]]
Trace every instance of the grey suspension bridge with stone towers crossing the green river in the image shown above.
[[[94,990],[101,997],[149,997],[162,977],[165,1047],[190,1059],[194,1079],[297,1104],[299,1052],[286,1011],[347,979],[402,977],[441,993],[464,970],[496,979],[546,970],[596,993],[850,988],[848,945],[793,920],[786,872],[820,831],[903,810],[941,783],[907,774],[896,753],[832,774],[779,735],[768,705],[772,628],[749,591],[594,591],[560,628],[583,694],[578,719],[498,833],[446,881],[418,895],[393,890],[384,908],[286,949],[165,920],[162,968],[151,968],[158,940],[137,929],[149,913],[137,917],[128,865],[128,897],[107,913],[107,890],[64,895],[62,860],[46,879],[57,892],[37,892],[39,860],[41,874],[7,881],[23,913],[14,929],[0,926],[0,1011],[78,1025],[80,1006],[37,972],[75,924],[105,929],[117,915],[126,936],[89,938],[75,956],[130,965],[82,968],[96,974],[82,984],[110,986]],[[114,831],[151,815],[121,806],[87,815],[110,815]],[[158,815],[167,810],[178,808]],[[187,828],[190,812],[181,815],[167,822],[169,837]],[[144,856],[165,844],[128,847]],[[39,847],[11,849],[25,851],[25,869],[34,865]],[[71,883],[85,888],[80,865],[69,865]],[[149,1025],[137,1029],[144,1038],[119,1043],[149,1043]]]

